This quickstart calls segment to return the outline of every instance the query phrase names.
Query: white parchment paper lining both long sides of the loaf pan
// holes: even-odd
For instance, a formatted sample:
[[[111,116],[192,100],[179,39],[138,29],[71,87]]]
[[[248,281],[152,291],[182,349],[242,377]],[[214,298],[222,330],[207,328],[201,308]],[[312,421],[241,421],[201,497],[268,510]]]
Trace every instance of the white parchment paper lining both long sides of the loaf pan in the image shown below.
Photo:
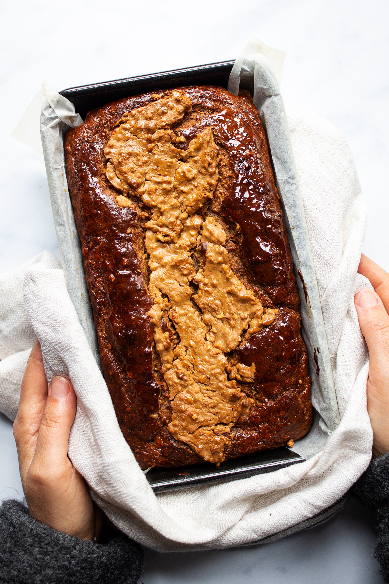
[[[309,352],[310,374],[313,380],[312,401],[316,409],[310,432],[297,441],[292,450],[308,459],[323,449],[328,434],[336,429],[340,418],[288,121],[274,70],[266,56],[266,49],[267,47],[257,39],[252,39],[248,43],[234,64],[228,89],[235,95],[239,91],[239,86],[253,91],[254,105],[267,132],[276,186],[282,200],[301,300],[302,335]],[[69,127],[77,127],[81,123],[82,119],[76,114],[73,104],[44,86],[41,138],[59,252],[69,296],[93,355],[97,363],[100,363],[93,312],[83,270],[81,245],[68,194],[64,163],[66,131]],[[320,373],[317,374],[319,369]]]

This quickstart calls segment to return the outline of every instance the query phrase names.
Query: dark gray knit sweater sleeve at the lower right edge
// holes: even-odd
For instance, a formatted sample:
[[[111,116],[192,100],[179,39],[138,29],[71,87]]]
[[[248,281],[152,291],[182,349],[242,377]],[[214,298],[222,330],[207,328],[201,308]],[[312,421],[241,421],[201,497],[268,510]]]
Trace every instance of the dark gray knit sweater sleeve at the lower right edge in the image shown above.
[[[377,546],[374,553],[381,574],[389,582],[389,453],[372,460],[352,488],[363,505],[376,511]]]

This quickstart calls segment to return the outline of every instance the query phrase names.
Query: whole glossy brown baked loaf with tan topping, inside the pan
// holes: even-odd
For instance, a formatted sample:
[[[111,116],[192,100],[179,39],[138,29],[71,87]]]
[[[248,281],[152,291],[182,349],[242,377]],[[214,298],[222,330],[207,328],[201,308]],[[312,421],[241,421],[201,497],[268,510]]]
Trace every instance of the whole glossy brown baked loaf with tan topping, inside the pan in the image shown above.
[[[146,93],[65,138],[101,368],[143,469],[220,464],[311,425],[300,301],[250,93]]]

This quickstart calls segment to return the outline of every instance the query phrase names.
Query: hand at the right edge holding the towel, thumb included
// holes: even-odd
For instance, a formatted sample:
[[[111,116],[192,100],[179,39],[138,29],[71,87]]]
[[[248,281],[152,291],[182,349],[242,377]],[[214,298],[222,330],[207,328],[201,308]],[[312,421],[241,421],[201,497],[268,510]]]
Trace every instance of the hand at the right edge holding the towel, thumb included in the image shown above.
[[[354,302],[370,354],[367,412],[376,458],[389,452],[389,274],[363,253],[358,272],[370,280],[375,290],[361,290]]]

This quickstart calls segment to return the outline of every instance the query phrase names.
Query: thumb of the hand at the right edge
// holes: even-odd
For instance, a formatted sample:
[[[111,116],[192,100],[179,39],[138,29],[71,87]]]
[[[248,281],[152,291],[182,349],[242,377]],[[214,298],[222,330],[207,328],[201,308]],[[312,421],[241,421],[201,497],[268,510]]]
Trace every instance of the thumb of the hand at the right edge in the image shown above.
[[[355,297],[359,326],[369,347],[369,381],[377,391],[387,392],[389,378],[389,316],[379,295],[371,288]]]

